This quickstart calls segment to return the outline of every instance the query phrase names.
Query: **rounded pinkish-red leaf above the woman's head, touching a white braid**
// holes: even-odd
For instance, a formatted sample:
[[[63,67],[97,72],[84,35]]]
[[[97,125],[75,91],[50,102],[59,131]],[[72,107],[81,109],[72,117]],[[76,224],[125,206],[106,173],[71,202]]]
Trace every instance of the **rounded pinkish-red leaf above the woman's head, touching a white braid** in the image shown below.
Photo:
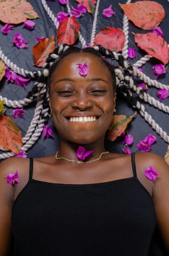
[[[105,27],[96,35],[94,42],[118,53],[123,49],[125,35],[119,28]]]

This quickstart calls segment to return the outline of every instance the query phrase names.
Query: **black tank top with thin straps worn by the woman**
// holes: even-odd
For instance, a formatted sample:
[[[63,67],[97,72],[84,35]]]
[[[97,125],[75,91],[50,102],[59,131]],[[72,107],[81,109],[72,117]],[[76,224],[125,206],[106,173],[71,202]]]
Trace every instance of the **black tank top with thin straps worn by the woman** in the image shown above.
[[[136,175],[95,184],[32,179],[11,217],[15,256],[147,256],[156,227],[154,203]]]

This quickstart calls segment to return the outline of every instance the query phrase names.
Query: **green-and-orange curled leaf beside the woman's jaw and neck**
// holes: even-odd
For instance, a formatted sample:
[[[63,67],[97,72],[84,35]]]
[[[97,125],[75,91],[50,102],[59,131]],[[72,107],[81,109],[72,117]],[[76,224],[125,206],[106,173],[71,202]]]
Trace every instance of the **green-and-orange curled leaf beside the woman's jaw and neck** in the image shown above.
[[[128,123],[132,120],[132,118],[136,115],[127,116],[127,115],[113,115],[109,132],[107,134],[107,139],[110,141],[114,141],[118,136],[125,131]]]

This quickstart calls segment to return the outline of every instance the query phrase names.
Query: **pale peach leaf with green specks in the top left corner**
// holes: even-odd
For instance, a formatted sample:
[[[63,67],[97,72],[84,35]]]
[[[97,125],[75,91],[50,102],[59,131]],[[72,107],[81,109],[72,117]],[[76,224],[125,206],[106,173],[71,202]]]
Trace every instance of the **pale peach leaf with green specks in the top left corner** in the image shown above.
[[[38,14],[26,0],[0,1],[0,20],[4,23],[19,24],[36,18],[39,18]]]

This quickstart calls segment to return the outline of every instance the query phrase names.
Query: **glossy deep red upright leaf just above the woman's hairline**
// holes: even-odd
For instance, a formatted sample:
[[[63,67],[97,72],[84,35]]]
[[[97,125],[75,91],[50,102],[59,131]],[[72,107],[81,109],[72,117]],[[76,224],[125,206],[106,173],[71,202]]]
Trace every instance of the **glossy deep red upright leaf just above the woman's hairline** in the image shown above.
[[[58,45],[74,44],[79,35],[79,23],[74,17],[64,19],[58,28]]]

